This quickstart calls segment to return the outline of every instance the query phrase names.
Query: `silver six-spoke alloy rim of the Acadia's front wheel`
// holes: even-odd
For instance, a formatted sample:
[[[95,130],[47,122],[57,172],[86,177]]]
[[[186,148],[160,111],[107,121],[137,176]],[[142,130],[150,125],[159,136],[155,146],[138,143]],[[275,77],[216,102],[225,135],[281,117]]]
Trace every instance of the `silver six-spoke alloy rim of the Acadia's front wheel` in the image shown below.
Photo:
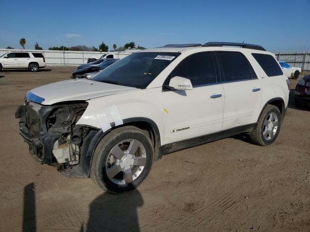
[[[127,185],[137,179],[146,164],[144,145],[136,139],[126,139],[115,145],[106,161],[106,174],[117,185]]]

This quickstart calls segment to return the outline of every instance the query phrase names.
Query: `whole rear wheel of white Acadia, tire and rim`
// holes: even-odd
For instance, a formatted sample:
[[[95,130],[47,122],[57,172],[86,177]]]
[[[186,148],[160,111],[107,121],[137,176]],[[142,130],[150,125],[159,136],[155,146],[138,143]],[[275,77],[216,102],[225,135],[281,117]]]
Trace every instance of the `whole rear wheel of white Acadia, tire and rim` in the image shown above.
[[[267,105],[261,114],[250,140],[257,145],[270,145],[277,139],[281,126],[281,113],[274,105]]]

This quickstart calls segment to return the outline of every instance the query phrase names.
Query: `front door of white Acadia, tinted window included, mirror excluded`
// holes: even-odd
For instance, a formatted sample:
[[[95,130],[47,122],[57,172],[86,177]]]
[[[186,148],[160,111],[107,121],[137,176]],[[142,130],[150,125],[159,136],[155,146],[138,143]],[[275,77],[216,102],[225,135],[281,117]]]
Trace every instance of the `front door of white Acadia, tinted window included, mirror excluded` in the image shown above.
[[[223,123],[224,90],[211,52],[185,58],[167,78],[189,79],[192,90],[164,91],[165,143],[218,132]]]

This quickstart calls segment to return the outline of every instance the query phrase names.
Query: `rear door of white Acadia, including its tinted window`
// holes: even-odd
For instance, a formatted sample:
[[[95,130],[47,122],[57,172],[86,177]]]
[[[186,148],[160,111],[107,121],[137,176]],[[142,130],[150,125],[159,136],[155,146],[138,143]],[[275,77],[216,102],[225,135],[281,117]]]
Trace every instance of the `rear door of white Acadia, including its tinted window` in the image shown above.
[[[241,52],[216,53],[225,91],[222,130],[254,123],[262,102],[261,82]]]

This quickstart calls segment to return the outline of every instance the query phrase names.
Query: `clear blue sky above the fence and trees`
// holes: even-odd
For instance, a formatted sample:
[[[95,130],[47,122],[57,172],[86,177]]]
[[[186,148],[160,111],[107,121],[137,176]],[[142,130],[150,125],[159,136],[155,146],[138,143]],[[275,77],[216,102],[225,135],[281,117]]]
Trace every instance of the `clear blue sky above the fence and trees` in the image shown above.
[[[211,41],[310,50],[310,0],[0,0],[0,48]]]

